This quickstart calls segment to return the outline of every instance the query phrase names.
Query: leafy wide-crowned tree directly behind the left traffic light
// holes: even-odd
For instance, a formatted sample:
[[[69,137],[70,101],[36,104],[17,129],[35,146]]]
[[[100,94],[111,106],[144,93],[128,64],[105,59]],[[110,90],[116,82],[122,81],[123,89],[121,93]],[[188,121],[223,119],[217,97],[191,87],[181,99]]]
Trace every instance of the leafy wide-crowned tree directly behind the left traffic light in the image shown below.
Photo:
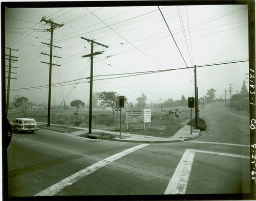
[[[114,111],[119,106],[119,94],[114,91],[103,91],[97,93],[97,98],[100,102],[100,106],[111,107],[113,110],[113,116],[115,115]]]

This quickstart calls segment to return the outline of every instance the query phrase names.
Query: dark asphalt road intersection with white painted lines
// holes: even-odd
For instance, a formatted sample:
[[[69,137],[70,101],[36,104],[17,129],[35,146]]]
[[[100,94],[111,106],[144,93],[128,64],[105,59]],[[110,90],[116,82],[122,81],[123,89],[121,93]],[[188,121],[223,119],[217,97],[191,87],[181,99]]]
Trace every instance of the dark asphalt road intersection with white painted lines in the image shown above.
[[[206,105],[200,117],[207,131],[187,142],[13,133],[9,196],[249,193],[249,117],[223,103]]]

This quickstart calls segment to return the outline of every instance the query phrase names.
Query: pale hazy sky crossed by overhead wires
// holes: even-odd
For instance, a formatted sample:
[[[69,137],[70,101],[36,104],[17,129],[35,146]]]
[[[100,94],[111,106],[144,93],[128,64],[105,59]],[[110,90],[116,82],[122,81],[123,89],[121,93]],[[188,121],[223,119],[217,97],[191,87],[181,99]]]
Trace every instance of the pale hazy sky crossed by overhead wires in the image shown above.
[[[81,7],[81,8],[6,8],[6,47],[18,49],[12,55],[18,62],[12,65],[10,100],[26,96],[33,103],[48,102],[49,24],[42,17],[64,25],[54,30],[52,68],[52,105],[65,98],[89,102],[91,44],[81,37],[109,46],[94,45],[93,91],[115,91],[128,102],[144,93],[147,103],[160,98],[181,99],[194,95],[194,70],[182,69],[116,79],[106,74],[176,69],[233,61],[248,60],[248,17],[246,5],[220,6],[157,6]],[[179,52],[180,51],[180,52]],[[181,54],[180,54],[181,53]],[[6,54],[9,54],[6,51]],[[183,60],[183,58],[184,60]],[[224,89],[233,84],[232,93],[240,92],[248,76],[248,62],[197,68],[199,97],[214,88],[216,98],[225,97]],[[82,79],[79,81],[74,81]],[[246,79],[245,79],[246,80]],[[72,82],[68,82],[72,81]],[[246,80],[248,81],[248,80]],[[74,83],[77,83],[73,85]],[[86,83],[84,83],[86,82]],[[246,83],[248,89],[248,83]],[[56,87],[57,86],[57,87]],[[40,88],[30,88],[40,87]],[[24,89],[29,88],[29,89]],[[229,98],[229,93],[227,94]]]

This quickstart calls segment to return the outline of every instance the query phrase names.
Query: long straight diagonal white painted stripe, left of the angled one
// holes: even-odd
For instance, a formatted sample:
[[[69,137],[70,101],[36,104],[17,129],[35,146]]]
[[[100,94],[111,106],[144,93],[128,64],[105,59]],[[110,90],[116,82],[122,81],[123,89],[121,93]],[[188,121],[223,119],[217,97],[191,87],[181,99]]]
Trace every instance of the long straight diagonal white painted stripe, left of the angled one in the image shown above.
[[[120,152],[118,154],[115,154],[111,157],[108,157],[108,158],[105,158],[87,168],[84,168],[74,174],[72,174],[71,176],[67,177],[66,179],[63,179],[61,180],[60,182],[50,186],[49,188],[37,193],[36,195],[34,196],[51,196],[51,195],[55,195],[57,192],[61,191],[63,188],[67,187],[67,186],[70,186],[72,185],[73,183],[77,182],[78,180],[86,177],[86,175],[96,171],[97,169],[127,155],[127,154],[130,154],[132,152],[134,152],[135,150],[138,150],[140,148],[143,148],[147,145],[150,145],[150,144],[140,144],[138,146],[135,146],[135,147],[132,147],[132,148],[129,148],[129,149],[126,149],[124,150],[123,152]]]

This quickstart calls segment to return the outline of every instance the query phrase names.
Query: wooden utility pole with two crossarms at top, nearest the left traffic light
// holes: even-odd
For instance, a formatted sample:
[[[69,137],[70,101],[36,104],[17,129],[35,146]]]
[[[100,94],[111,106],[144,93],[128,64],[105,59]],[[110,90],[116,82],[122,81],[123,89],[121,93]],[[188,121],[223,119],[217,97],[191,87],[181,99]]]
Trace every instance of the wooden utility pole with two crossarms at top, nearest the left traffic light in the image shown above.
[[[92,105],[93,105],[93,102],[92,102],[93,101],[93,56],[100,55],[100,54],[103,53],[103,52],[93,53],[93,46],[94,46],[94,43],[96,43],[98,45],[101,45],[101,46],[104,46],[104,47],[107,47],[107,48],[109,46],[103,45],[101,43],[95,42],[94,40],[90,40],[90,39],[87,39],[87,38],[84,38],[84,37],[81,37],[81,39],[87,40],[89,43],[91,42],[91,54],[82,56],[83,58],[84,57],[91,57],[90,103],[89,103],[89,134],[91,134],[92,133]]]

